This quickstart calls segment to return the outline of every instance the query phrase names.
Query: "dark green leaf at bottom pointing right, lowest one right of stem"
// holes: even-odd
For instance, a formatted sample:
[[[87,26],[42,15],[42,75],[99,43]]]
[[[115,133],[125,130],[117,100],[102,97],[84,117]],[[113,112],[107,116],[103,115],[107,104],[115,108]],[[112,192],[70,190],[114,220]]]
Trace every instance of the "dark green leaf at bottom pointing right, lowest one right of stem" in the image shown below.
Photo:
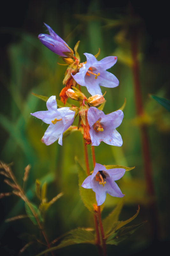
[[[138,225],[121,228],[117,232],[113,233],[106,240],[106,244],[119,244],[123,240],[127,239],[130,235],[132,235],[138,228],[140,228],[146,221],[140,223]]]

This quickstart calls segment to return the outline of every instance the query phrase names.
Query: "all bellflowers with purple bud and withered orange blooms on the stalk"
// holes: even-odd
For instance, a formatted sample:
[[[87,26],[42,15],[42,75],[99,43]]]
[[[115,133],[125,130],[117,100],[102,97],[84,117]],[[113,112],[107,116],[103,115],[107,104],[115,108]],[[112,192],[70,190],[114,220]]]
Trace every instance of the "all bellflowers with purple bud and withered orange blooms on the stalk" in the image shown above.
[[[86,144],[98,146],[101,141],[114,146],[122,146],[122,137],[116,131],[123,119],[123,112],[117,110],[105,115],[97,108],[105,101],[100,86],[113,88],[118,86],[119,81],[114,74],[106,70],[112,67],[117,57],[109,56],[98,61],[90,53],[84,53],[86,62],[80,63],[80,58],[75,46],[73,50],[61,39],[47,24],[49,34],[40,34],[38,38],[48,49],[63,57],[69,65],[63,84],[65,87],[60,93],[61,101],[65,104],[70,97],[80,102],[80,107],[61,107],[57,109],[55,96],[47,100],[47,111],[38,111],[31,115],[49,124],[42,142],[46,145],[58,143],[62,145],[63,132],[73,123],[77,113],[79,114],[78,128],[82,128]],[[76,88],[76,85],[85,86],[92,95],[87,99],[85,95]],[[105,166],[96,163],[92,175],[89,175],[82,184],[86,189],[92,189],[96,193],[97,205],[100,206],[106,199],[106,193],[114,197],[123,197],[121,190],[115,183],[125,173],[125,169],[106,169]]]

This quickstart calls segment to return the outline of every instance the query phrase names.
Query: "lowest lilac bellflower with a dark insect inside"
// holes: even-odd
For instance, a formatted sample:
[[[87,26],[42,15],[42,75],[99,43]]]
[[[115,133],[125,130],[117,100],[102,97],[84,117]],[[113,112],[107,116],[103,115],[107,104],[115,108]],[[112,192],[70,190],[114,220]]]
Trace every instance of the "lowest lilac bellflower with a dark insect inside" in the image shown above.
[[[100,206],[106,199],[106,193],[112,197],[124,196],[115,183],[124,174],[125,169],[106,169],[105,166],[96,163],[92,175],[88,176],[81,186],[85,189],[92,189],[96,193],[97,205]]]

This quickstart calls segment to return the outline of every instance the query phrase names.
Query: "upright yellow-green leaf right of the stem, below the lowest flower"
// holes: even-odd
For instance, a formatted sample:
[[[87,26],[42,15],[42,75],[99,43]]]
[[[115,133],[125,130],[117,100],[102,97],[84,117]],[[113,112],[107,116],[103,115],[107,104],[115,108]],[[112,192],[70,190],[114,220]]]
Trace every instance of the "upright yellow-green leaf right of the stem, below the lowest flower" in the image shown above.
[[[120,199],[115,209],[102,221],[105,235],[107,235],[110,232],[113,226],[115,226],[115,223],[118,221],[119,214],[123,207],[123,201],[124,199]]]

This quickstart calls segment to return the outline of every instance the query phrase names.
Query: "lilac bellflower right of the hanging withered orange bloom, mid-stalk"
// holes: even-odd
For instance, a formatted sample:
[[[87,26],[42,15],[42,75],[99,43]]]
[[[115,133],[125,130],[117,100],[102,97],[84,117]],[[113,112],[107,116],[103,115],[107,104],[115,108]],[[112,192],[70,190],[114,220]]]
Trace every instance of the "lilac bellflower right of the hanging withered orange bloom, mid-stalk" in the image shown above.
[[[99,146],[101,141],[109,145],[122,146],[122,137],[115,129],[122,123],[122,119],[122,110],[105,115],[103,111],[90,107],[87,120],[90,125],[92,146]]]

